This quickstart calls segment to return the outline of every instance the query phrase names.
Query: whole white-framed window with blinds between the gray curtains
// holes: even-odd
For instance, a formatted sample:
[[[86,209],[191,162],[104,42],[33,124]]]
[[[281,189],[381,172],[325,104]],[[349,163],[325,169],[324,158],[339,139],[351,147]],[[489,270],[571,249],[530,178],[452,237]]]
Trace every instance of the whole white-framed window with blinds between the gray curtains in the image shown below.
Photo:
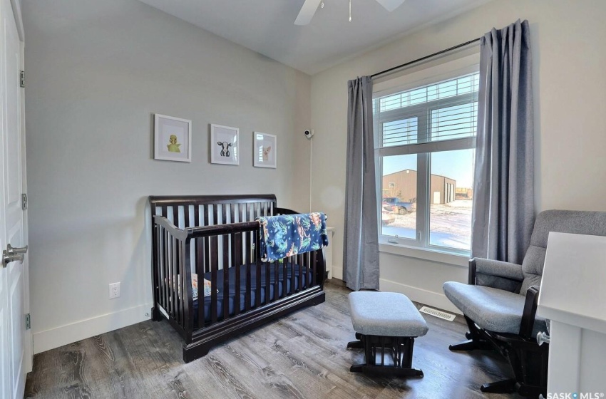
[[[478,73],[375,95],[381,242],[468,254]]]

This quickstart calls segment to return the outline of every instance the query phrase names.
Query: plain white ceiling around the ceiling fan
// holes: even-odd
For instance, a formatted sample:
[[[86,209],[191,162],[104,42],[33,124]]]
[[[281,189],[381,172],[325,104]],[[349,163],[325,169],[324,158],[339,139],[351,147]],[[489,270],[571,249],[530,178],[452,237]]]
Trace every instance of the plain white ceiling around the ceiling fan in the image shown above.
[[[313,75],[432,21],[488,0],[406,0],[389,13],[374,0],[324,0],[311,24],[304,0],[140,0],[257,53]]]

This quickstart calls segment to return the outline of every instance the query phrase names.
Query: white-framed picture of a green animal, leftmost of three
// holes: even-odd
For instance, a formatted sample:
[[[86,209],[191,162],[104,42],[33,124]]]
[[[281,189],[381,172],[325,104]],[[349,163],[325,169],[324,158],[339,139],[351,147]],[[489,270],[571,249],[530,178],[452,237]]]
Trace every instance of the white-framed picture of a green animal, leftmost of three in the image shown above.
[[[192,121],[154,115],[154,152],[156,160],[192,162]]]

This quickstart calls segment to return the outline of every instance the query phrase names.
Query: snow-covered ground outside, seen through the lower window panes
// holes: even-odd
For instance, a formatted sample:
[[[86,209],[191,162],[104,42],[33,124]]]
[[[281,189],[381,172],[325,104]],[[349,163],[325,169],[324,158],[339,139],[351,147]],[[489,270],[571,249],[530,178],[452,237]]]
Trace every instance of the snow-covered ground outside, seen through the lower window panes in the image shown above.
[[[429,242],[431,245],[457,249],[471,248],[471,205],[468,199],[449,204],[431,204],[429,212]],[[382,228],[382,234],[415,237],[416,212],[396,214],[396,220]]]

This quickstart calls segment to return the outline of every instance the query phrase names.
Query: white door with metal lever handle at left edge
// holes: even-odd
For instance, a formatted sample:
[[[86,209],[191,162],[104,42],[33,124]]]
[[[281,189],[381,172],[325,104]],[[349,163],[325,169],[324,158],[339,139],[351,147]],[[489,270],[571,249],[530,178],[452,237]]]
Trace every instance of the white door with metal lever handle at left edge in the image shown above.
[[[0,3],[0,249],[25,247],[24,135],[22,130],[21,41],[10,0]],[[1,398],[23,398],[26,369],[31,365],[31,335],[26,333],[29,306],[27,255],[0,265]],[[4,254],[3,254],[4,258]],[[29,342],[28,342],[29,341]],[[29,358],[29,359],[28,359]]]

